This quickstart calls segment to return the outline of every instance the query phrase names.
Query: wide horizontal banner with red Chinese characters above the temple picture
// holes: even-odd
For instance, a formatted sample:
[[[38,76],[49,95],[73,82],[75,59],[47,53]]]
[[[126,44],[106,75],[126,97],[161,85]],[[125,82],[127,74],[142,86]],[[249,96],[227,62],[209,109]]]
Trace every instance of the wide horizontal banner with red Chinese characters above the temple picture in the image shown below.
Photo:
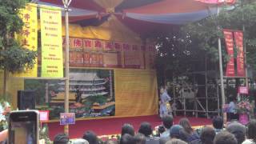
[[[65,44],[65,38],[62,43]],[[153,44],[70,38],[70,66],[154,69]]]

